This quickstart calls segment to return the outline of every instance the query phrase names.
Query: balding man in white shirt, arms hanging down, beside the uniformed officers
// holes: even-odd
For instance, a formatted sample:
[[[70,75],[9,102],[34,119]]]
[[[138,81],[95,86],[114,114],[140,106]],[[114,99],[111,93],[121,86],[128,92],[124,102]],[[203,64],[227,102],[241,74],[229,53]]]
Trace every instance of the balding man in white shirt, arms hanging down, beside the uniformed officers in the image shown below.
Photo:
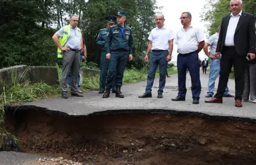
[[[156,25],[157,27],[151,30],[148,40],[150,43],[148,45],[146,56],[144,57],[145,61],[148,62],[148,55],[150,53],[150,64],[149,72],[146,84],[146,91],[139,98],[148,98],[152,97],[151,91],[153,82],[156,75],[156,69],[159,65],[159,90],[157,98],[163,98],[163,89],[166,82],[166,69],[168,62],[172,59],[173,52],[173,39],[174,33],[173,30],[170,30],[164,26],[164,16],[163,14],[156,15]]]

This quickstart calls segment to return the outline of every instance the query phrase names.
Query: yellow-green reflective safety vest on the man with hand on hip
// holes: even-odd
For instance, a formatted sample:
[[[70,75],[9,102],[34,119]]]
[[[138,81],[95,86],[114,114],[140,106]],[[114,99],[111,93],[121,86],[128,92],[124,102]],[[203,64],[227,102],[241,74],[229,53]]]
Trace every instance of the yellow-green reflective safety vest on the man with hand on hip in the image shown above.
[[[81,30],[77,27],[80,35],[82,36]],[[61,46],[64,46],[66,41],[68,40],[69,36],[70,36],[70,32],[71,32],[71,25],[66,25],[64,26],[64,33],[62,35],[62,37],[59,37],[59,42]],[[81,44],[83,43],[83,41],[81,41]],[[57,53],[58,53],[58,58],[63,58],[63,51],[60,50],[60,48],[58,47],[57,49]]]

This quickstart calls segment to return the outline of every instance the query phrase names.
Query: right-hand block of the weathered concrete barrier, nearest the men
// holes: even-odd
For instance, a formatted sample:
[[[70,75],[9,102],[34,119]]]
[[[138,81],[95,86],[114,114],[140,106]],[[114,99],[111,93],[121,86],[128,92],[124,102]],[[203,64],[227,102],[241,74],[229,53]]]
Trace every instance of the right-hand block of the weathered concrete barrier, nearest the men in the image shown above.
[[[59,85],[58,69],[55,66],[29,66],[30,81],[44,82],[47,85]]]

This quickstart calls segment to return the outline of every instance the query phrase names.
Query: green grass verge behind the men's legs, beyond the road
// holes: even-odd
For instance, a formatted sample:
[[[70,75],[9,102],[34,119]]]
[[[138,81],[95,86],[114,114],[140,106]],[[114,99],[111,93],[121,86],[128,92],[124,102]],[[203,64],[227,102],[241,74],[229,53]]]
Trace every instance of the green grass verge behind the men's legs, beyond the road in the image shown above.
[[[168,75],[177,73],[177,68],[168,68]],[[123,83],[135,83],[145,81],[147,79],[148,70],[146,68],[142,70],[126,69],[123,75]],[[156,78],[159,77],[159,69],[156,71]],[[100,89],[100,76],[94,76],[89,78],[83,78],[81,89],[99,90]]]

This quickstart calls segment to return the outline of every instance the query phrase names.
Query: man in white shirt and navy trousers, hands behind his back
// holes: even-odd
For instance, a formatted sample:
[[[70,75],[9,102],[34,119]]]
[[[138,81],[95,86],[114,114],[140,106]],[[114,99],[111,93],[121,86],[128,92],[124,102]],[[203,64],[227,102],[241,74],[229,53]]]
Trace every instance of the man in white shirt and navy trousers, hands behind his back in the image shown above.
[[[180,20],[183,27],[177,32],[175,43],[178,46],[178,96],[173,101],[185,101],[186,98],[186,70],[190,71],[193,104],[199,104],[201,82],[198,67],[198,53],[205,44],[203,31],[191,25],[191,13],[183,12]]]

